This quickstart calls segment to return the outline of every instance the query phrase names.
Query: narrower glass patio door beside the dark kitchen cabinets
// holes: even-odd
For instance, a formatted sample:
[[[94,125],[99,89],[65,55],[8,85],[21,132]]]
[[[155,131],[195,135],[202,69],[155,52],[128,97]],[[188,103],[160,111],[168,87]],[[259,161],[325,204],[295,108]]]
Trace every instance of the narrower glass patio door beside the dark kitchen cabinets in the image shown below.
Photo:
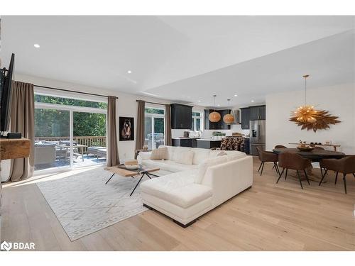
[[[153,150],[165,143],[165,109],[146,107],[145,113],[144,144]]]

